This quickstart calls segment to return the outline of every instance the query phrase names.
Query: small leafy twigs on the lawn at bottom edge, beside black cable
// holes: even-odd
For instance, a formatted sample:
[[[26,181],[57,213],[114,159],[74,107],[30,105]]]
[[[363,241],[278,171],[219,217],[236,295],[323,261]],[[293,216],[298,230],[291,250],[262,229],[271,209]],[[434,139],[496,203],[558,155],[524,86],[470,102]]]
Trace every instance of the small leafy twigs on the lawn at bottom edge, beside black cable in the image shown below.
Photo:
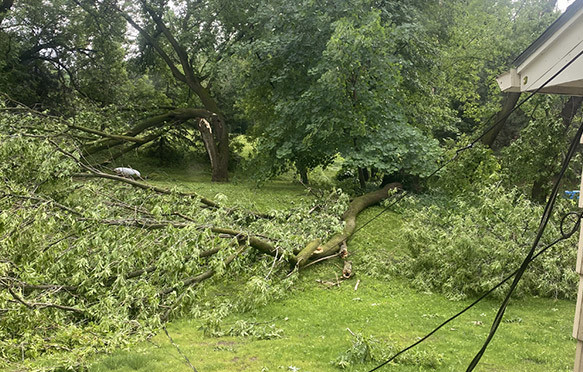
[[[374,336],[363,336],[360,333],[354,335],[352,346],[342,353],[333,365],[341,368],[354,368],[358,364],[382,363],[402,349],[392,341],[381,341]],[[443,356],[433,350],[425,351],[413,349],[398,357],[392,364],[423,366],[435,369],[443,362]]]

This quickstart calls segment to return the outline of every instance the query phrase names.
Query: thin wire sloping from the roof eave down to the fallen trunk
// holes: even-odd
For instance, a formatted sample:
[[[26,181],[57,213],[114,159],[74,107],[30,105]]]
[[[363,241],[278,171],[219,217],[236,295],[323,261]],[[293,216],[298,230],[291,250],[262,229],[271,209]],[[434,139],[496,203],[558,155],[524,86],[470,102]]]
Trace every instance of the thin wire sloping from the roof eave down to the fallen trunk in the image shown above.
[[[510,112],[508,112],[507,114],[505,114],[504,116],[502,116],[499,120],[497,120],[494,124],[492,124],[488,128],[486,128],[486,130],[484,132],[482,132],[482,134],[479,135],[476,139],[474,139],[469,145],[466,145],[464,147],[461,147],[461,148],[457,149],[456,152],[455,152],[455,154],[450,159],[448,159],[446,162],[444,162],[443,164],[441,164],[441,166],[439,166],[429,176],[427,176],[427,178],[425,180],[430,180],[431,178],[435,177],[442,169],[444,169],[449,164],[451,164],[454,161],[456,161],[458,159],[459,155],[462,152],[473,148],[475,144],[477,144],[478,142],[480,142],[482,140],[482,138],[484,138],[488,133],[490,133],[492,130],[494,130],[494,128],[496,128],[500,123],[502,123],[504,120],[508,119],[508,117],[510,115],[512,115],[512,113],[514,113],[514,111],[518,110],[523,104],[525,104],[528,100],[530,100],[535,94],[537,94],[542,89],[544,89],[553,79],[555,79],[557,76],[559,76],[560,73],[562,73],[563,71],[565,71],[571,64],[573,64],[573,62],[575,62],[579,57],[581,57],[581,55],[583,55],[583,50],[581,50],[575,57],[573,57],[566,65],[564,65],[563,67],[561,67],[559,69],[559,71],[557,71],[555,74],[553,74],[553,76],[551,76],[547,81],[545,81],[544,84],[542,84],[540,87],[538,87],[535,91],[531,92],[525,99],[523,99],[516,106],[514,106],[514,108]],[[490,117],[486,120],[486,124],[488,124],[490,121],[492,121],[492,119],[495,116],[496,116],[496,113],[490,115]],[[371,222],[373,222],[374,220],[376,220],[377,218],[379,218],[382,214],[384,214],[385,212],[387,212],[393,205],[395,205],[399,201],[401,201],[406,195],[407,195],[407,192],[401,193],[399,195],[399,197],[397,199],[395,199],[395,201],[393,201],[392,203],[390,203],[389,205],[387,205],[377,215],[375,215],[370,220],[366,221],[364,224],[362,224],[360,227],[358,227],[356,230],[354,230],[354,233],[352,234],[352,236],[350,237],[350,239],[352,239],[352,237],[354,237],[354,235],[358,231],[364,229],[365,226],[367,226],[368,224],[370,224]]]

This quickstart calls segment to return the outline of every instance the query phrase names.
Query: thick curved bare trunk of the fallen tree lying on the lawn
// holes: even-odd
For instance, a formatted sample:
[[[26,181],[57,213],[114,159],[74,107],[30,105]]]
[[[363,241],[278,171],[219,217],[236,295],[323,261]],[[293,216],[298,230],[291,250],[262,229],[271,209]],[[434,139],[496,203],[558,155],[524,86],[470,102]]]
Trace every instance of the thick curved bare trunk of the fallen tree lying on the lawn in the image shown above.
[[[342,215],[342,220],[345,223],[344,230],[341,233],[334,235],[324,245],[320,246],[319,248],[321,248],[321,250],[318,249],[318,252],[309,256],[309,259],[317,260],[319,258],[330,256],[339,252],[340,249],[342,248],[342,244],[345,243],[346,240],[352,236],[354,230],[356,229],[356,216],[358,216],[360,212],[370,207],[371,205],[375,205],[381,202],[382,200],[386,199],[389,196],[389,190],[400,189],[401,187],[402,187],[401,184],[398,182],[390,183],[380,190],[376,190],[355,198],[352,202],[350,202],[348,209]],[[310,246],[310,244],[308,244],[308,246],[304,248],[302,252],[307,252],[307,249]],[[307,263],[308,263],[307,259],[298,260],[297,266],[298,268],[301,268],[305,266]]]

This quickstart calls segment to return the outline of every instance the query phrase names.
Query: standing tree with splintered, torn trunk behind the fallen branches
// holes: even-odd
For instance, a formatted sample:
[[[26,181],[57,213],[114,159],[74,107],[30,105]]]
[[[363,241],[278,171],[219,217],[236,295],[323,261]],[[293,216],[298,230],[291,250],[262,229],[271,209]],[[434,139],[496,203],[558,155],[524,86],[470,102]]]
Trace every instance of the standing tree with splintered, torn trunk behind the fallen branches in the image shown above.
[[[196,95],[198,104],[207,113],[201,116],[201,110],[183,110],[180,120],[196,120],[194,127],[199,130],[207,150],[212,180],[228,181],[229,126],[212,91],[212,80],[217,76],[218,61],[244,35],[247,25],[239,18],[244,7],[220,0],[172,4],[147,0],[135,4],[119,4],[114,0],[74,1],[88,13],[95,13],[97,7],[109,7],[110,12],[123,17],[139,34],[135,41],[143,40],[143,46],[155,51],[174,81],[183,84],[189,94]],[[193,116],[188,117],[188,113]],[[168,113],[167,117],[176,118],[176,115]]]

